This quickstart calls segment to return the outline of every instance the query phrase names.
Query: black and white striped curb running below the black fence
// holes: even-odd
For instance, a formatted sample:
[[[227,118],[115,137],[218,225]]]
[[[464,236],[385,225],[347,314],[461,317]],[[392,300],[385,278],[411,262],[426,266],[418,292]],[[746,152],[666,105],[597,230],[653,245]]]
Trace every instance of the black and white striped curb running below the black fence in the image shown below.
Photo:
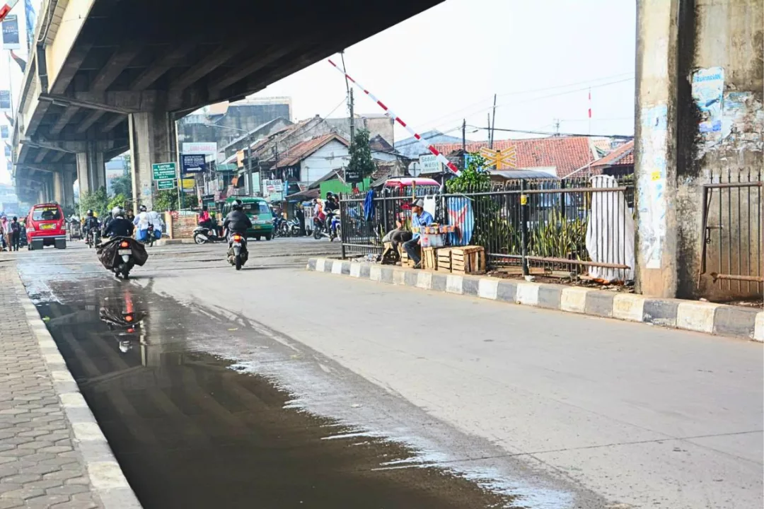
[[[764,311],[758,308],[650,298],[580,286],[427,272],[328,258],[309,259],[307,269],[434,292],[471,295],[492,301],[764,341]]]

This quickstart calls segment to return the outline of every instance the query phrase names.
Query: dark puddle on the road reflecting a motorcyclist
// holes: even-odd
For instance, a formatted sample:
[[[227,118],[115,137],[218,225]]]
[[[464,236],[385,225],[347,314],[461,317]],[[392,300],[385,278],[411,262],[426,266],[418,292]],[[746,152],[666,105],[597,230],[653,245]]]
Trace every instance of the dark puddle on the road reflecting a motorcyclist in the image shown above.
[[[292,408],[268,379],[196,350],[193,338],[234,329],[150,282],[37,283],[56,297],[32,295],[147,509],[511,505],[452,472],[412,466],[399,443]]]

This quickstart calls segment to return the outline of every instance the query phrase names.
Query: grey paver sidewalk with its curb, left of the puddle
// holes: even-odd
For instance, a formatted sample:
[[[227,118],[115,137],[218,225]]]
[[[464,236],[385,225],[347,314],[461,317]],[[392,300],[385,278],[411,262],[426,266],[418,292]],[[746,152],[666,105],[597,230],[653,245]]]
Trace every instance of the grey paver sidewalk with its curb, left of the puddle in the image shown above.
[[[0,317],[0,509],[141,507],[12,261]]]

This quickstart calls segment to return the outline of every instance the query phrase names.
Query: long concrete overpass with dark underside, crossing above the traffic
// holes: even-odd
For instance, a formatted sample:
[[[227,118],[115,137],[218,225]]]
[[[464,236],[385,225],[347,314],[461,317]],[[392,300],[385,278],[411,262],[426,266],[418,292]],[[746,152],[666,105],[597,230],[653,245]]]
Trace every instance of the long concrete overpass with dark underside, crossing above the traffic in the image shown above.
[[[105,185],[105,161],[129,149],[134,195],[151,205],[151,164],[176,160],[177,118],[440,2],[44,0],[13,135],[17,182],[73,204],[75,179],[81,192]]]

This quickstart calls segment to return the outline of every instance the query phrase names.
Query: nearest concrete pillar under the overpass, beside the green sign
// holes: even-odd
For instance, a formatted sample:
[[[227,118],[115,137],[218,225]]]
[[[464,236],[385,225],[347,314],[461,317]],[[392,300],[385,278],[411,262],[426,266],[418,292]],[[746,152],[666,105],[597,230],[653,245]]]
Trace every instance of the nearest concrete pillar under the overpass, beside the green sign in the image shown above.
[[[177,162],[175,121],[167,111],[134,113],[128,116],[132,159],[133,208],[154,205],[151,165]]]

